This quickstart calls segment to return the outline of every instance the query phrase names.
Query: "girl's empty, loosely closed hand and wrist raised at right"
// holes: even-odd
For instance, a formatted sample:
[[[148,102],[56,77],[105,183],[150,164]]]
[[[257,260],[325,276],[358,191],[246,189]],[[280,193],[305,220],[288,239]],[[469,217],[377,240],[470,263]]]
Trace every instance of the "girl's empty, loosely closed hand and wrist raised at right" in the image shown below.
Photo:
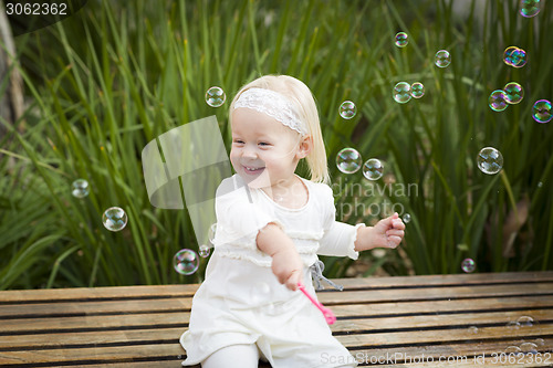
[[[357,231],[356,251],[365,251],[373,248],[395,249],[405,235],[405,223],[399,219],[399,214],[378,221],[372,228],[359,228]]]

